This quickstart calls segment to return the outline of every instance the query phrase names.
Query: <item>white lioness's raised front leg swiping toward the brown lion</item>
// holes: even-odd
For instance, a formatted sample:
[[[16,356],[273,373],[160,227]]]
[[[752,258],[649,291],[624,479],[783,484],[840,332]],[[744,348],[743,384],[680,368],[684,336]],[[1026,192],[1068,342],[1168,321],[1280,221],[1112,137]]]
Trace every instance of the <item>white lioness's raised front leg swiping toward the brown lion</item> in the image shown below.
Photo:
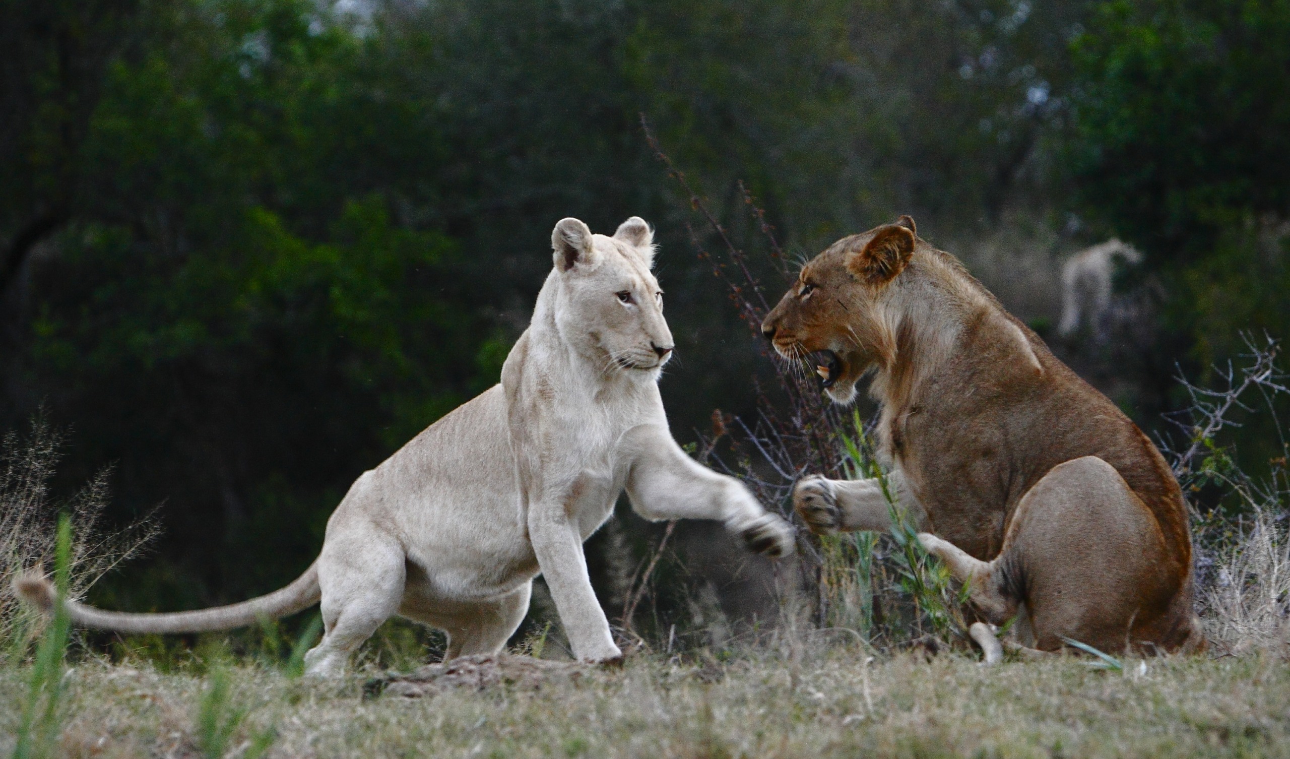
[[[686,456],[667,427],[632,427],[623,450],[631,457],[627,497],[645,519],[716,519],[749,550],[771,558],[793,552],[788,523],[762,509],[739,480]]]

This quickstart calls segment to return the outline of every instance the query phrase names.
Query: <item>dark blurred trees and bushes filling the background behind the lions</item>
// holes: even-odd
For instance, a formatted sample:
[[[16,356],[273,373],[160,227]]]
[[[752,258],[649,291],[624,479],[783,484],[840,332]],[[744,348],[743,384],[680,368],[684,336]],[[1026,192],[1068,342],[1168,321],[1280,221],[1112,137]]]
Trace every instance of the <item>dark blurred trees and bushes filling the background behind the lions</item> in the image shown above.
[[[160,503],[92,599],[266,591],[498,380],[555,222],[633,214],[673,432],[752,416],[769,361],[640,114],[737,245],[740,179],[791,257],[913,214],[1155,427],[1175,364],[1290,333],[1287,93],[1286,0],[0,0],[0,429],[44,408],[62,487]],[[1059,338],[1062,261],[1111,236],[1134,334]]]

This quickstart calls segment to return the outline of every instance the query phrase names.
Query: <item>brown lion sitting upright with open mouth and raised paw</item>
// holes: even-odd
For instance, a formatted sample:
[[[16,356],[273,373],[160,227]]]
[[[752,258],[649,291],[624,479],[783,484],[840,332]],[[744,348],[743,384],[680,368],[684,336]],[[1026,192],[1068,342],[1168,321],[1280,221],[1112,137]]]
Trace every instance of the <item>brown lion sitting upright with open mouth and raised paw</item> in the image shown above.
[[[1204,645],[1187,510],[1160,452],[913,219],[817,256],[762,332],[836,403],[873,370],[891,483],[982,618],[1018,616],[1018,642],[1042,651]],[[814,532],[890,528],[876,480],[806,478],[793,502]]]

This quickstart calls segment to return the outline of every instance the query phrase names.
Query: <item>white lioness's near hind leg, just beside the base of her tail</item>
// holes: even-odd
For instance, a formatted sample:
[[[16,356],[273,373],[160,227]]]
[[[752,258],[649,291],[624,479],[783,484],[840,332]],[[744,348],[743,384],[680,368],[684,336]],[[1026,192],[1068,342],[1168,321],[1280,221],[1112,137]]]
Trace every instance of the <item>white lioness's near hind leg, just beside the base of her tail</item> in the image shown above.
[[[344,671],[350,656],[399,608],[404,552],[393,541],[361,531],[322,546],[322,640],[304,654],[304,671],[329,676]],[[329,536],[330,537],[330,536]]]

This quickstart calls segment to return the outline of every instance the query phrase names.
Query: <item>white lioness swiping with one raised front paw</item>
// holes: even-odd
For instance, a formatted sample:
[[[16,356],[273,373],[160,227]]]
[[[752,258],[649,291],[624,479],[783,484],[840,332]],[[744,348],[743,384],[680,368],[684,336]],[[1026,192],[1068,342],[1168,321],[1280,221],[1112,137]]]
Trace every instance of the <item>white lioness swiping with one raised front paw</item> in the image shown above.
[[[286,587],[161,614],[70,603],[72,621],[123,632],[227,630],[321,599],[325,635],[306,665],[330,674],[395,613],[445,630],[449,658],[497,653],[524,620],[541,572],[574,654],[595,662],[622,652],[582,543],[624,488],[646,519],[720,519],[753,550],[792,551],[779,516],[672,440],[657,385],[672,334],[650,272],[651,241],[637,217],[613,238],[574,218],[557,223],[555,268],[502,383],[360,476],[328,521],[322,552]],[[45,580],[18,586],[46,608],[55,600]]]

